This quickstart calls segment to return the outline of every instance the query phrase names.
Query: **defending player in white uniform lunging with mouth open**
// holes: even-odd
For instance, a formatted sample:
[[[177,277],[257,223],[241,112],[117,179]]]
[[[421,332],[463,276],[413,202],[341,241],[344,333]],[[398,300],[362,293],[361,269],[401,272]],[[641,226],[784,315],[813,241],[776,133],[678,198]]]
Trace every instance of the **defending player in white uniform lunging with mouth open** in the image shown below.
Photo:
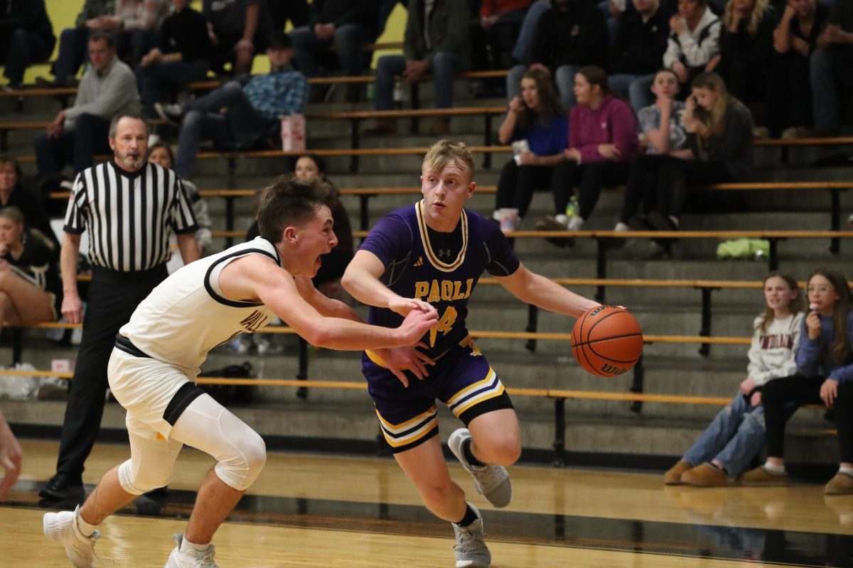
[[[74,512],[46,513],[44,534],[73,565],[94,567],[103,519],[171,479],[184,444],[218,463],[202,481],[189,525],[165,568],[215,568],[211,544],[258,477],[264,441],[194,383],[207,352],[273,315],[318,347],[363,350],[415,344],[438,320],[413,310],[397,328],[363,324],[350,307],[317,292],[310,278],[335,244],[330,187],[282,177],[264,189],[261,236],[183,267],[152,291],[116,337],[109,385],[127,410],[131,459],[104,474]]]

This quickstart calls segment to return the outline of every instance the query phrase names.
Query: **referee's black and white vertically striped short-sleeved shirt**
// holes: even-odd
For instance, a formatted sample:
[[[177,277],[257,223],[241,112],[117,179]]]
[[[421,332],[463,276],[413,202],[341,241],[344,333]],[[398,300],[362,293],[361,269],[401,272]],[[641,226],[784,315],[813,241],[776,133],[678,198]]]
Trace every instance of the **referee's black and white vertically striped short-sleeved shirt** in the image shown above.
[[[193,208],[171,169],[146,164],[136,172],[113,160],[84,169],[74,181],[66,232],[89,231],[90,262],[121,272],[169,260],[169,235],[195,232]]]

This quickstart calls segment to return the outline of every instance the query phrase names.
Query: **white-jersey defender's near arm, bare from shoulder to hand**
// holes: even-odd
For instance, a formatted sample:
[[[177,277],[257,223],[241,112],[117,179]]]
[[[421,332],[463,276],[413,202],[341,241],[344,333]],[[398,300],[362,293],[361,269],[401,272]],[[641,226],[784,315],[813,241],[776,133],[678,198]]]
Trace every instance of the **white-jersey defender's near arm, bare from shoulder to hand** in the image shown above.
[[[269,258],[247,255],[231,262],[219,276],[229,298],[257,298],[312,345],[354,350],[412,345],[436,324],[435,313],[413,310],[397,328],[323,316],[299,294],[293,277]]]

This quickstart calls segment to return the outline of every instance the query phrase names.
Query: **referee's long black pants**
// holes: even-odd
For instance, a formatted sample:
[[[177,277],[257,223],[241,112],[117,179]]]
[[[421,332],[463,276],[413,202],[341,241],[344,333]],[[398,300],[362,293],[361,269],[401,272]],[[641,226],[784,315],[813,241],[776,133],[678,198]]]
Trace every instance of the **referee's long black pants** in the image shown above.
[[[68,387],[68,404],[59,445],[57,473],[77,479],[95,444],[107,394],[107,364],[115,336],[139,303],[168,275],[165,264],[150,270],[116,272],[93,267],[83,320],[83,341],[77,354],[74,378]]]

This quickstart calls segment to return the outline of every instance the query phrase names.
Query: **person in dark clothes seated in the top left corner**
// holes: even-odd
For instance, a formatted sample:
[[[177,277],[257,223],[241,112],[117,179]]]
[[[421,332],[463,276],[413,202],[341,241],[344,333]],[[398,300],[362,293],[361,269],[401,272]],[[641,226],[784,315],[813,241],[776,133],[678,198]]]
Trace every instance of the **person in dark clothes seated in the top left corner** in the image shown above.
[[[50,57],[56,37],[44,0],[6,0],[0,5],[0,65],[9,79],[3,90],[20,89],[26,68]]]

